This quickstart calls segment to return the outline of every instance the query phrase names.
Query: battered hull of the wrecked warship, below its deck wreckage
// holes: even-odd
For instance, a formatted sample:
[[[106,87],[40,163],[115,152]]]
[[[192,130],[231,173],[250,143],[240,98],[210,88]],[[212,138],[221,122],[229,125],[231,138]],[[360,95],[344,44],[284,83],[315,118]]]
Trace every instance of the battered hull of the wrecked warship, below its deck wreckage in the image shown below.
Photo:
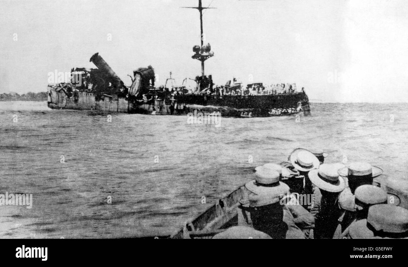
[[[152,100],[139,103],[116,95],[100,96],[90,92],[75,92],[67,96],[62,90],[48,88],[48,107],[52,109],[98,110],[101,112],[124,112],[153,115],[183,115],[194,112],[220,112],[224,117],[250,118],[304,114],[310,115],[308,97],[305,93],[278,94],[260,96],[213,96],[178,95],[177,101]],[[295,112],[298,103],[302,103],[302,112]],[[272,109],[290,109],[276,112]]]

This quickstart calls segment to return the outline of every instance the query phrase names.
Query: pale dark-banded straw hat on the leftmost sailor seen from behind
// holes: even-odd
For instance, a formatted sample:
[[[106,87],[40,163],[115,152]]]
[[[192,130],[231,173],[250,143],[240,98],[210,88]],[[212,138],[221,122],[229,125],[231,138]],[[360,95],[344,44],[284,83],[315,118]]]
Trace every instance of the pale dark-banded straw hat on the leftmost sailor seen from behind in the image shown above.
[[[256,178],[245,184],[253,194],[249,194],[249,206],[260,207],[279,201],[279,196],[289,192],[289,186],[279,182],[277,171],[261,169],[255,172]]]

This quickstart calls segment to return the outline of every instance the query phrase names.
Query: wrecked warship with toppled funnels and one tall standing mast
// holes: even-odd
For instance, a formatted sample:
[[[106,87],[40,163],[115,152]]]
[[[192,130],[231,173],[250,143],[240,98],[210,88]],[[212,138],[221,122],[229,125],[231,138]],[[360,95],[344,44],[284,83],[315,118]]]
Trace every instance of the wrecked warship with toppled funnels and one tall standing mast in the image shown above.
[[[198,7],[191,8],[200,11],[203,34],[202,10],[207,8],[202,7],[201,0]],[[194,88],[185,85],[168,87],[167,83],[155,87],[152,66],[134,70],[132,84],[127,87],[99,53],[95,53],[89,61],[97,68],[72,68],[71,82],[48,85],[48,107],[153,115],[196,111],[237,118],[310,115],[308,96],[303,88],[296,92],[292,85],[287,84],[285,88],[282,84],[266,89],[262,83],[243,85],[236,79],[214,86],[212,75],[204,74],[204,61],[214,53],[210,44],[204,45],[202,39],[201,46],[193,47],[195,54],[192,58],[201,61],[201,76],[191,79],[195,81]]]

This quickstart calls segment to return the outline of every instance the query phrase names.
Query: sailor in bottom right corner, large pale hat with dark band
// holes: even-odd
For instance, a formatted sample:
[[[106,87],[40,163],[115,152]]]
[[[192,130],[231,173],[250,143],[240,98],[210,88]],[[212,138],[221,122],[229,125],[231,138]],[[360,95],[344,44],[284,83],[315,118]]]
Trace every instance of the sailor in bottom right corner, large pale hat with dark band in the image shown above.
[[[408,210],[389,204],[368,208],[367,219],[355,221],[345,235],[348,239],[408,239]]]

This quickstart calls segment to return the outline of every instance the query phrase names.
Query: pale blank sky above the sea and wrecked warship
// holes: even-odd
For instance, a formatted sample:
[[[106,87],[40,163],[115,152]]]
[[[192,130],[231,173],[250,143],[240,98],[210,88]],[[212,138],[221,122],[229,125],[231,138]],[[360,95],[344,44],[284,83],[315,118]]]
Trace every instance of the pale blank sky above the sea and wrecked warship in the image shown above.
[[[153,66],[181,84],[201,72],[198,0],[0,0],[0,93],[46,91],[49,72],[95,68],[126,85]],[[203,0],[216,84],[296,83],[312,102],[408,102],[404,0]],[[253,79],[251,80],[251,77]]]

